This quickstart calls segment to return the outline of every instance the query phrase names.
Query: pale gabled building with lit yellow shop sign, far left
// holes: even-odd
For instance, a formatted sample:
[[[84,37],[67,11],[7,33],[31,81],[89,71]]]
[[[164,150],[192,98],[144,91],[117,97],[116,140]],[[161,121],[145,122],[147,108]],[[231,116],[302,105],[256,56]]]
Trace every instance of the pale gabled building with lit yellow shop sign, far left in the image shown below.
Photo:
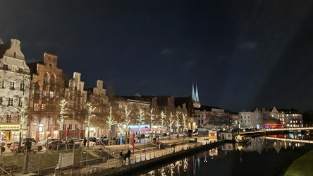
[[[2,42],[1,42],[2,43]],[[19,139],[20,110],[30,95],[30,69],[20,50],[20,41],[0,45],[0,140]],[[27,134],[23,125],[23,137]]]

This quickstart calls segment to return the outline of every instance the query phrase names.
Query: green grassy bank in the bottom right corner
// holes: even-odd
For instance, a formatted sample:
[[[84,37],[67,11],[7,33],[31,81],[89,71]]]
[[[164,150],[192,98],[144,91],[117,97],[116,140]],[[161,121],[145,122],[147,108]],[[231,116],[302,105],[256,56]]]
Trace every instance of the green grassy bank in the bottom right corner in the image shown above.
[[[313,174],[313,151],[305,153],[305,155],[297,158],[286,170],[283,176],[307,176]]]

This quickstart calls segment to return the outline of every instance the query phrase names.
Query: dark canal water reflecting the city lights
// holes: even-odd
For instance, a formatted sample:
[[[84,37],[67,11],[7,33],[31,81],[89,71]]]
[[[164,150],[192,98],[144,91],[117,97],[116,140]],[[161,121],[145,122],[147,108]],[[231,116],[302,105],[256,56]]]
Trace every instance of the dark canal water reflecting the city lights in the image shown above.
[[[293,160],[313,150],[309,140],[308,134],[285,134],[257,137],[243,144],[225,143],[141,175],[283,175]]]

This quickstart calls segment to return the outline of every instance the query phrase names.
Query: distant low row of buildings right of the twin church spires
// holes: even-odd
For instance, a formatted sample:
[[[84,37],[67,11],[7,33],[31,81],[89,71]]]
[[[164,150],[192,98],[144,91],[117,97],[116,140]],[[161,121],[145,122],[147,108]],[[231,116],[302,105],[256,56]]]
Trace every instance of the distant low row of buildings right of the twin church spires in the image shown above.
[[[217,107],[195,108],[193,120],[197,127],[205,129],[273,129],[303,127],[302,114],[295,109],[277,110],[256,108],[254,111],[238,113]]]

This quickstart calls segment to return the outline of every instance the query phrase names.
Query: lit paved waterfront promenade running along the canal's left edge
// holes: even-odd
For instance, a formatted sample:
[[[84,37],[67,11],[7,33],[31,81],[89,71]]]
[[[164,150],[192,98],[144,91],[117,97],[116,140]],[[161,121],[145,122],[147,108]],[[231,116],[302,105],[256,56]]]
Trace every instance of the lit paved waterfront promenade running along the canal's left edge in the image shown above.
[[[144,165],[143,167],[147,167],[148,164],[153,164],[151,163],[152,161],[154,163],[159,163],[162,159],[166,159],[164,157],[170,155],[171,158],[173,158],[173,156],[178,157],[180,152],[188,153],[188,151],[200,148],[201,146],[205,146],[205,144],[208,143],[214,143],[214,140],[204,139],[204,137],[197,137],[197,142],[195,142],[195,139],[164,139],[156,141],[156,143],[135,143],[135,152],[130,156],[130,163],[127,159],[125,165],[121,164],[118,153],[120,151],[126,153],[129,147],[128,145],[105,146],[108,151],[111,151],[111,153],[114,154],[114,158],[110,158],[103,163],[97,163],[93,165],[86,164],[81,168],[56,170],[56,172],[46,175],[123,175],[130,170],[140,169],[142,165]],[[162,146],[165,146],[165,148],[162,148]],[[130,150],[132,150],[132,148],[130,148]]]

